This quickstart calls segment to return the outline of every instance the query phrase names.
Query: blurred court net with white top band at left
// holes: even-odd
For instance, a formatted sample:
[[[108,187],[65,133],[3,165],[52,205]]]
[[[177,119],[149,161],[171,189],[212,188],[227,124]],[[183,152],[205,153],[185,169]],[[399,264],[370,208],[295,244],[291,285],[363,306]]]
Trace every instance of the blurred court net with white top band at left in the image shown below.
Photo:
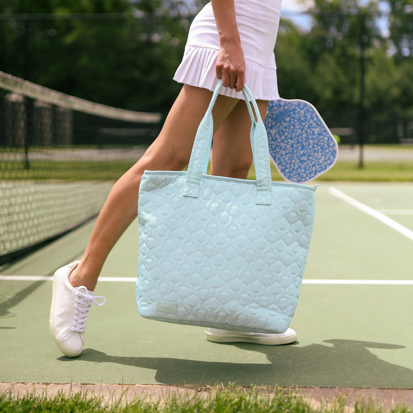
[[[0,265],[96,216],[160,121],[0,72]]]

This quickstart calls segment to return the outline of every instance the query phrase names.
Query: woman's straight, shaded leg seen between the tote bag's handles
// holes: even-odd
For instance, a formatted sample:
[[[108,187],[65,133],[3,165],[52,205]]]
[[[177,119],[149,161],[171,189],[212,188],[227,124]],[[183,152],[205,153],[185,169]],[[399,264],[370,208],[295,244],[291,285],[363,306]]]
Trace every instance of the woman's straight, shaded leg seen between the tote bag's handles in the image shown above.
[[[257,105],[265,119],[268,101],[257,100]],[[214,134],[211,175],[247,179],[253,161],[250,130],[247,104],[240,100]]]

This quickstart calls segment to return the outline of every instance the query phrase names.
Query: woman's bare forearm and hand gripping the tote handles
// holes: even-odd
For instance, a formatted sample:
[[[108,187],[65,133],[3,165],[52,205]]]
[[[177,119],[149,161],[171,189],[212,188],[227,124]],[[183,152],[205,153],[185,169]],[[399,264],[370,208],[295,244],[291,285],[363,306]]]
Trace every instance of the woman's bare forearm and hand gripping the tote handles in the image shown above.
[[[235,19],[234,0],[211,0],[219,33],[216,76],[225,87],[240,92],[245,83],[245,59]]]

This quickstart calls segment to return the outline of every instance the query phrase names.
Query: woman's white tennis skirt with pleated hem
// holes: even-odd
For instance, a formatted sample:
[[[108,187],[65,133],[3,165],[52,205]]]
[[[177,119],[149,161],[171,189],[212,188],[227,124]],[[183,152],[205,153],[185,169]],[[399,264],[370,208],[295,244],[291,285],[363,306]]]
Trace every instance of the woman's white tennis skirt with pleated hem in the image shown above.
[[[234,0],[235,17],[245,58],[245,83],[256,99],[279,99],[274,47],[280,24],[281,0]],[[173,79],[214,90],[219,35],[209,2],[189,29],[185,53]],[[221,95],[244,99],[242,92],[221,88]]]

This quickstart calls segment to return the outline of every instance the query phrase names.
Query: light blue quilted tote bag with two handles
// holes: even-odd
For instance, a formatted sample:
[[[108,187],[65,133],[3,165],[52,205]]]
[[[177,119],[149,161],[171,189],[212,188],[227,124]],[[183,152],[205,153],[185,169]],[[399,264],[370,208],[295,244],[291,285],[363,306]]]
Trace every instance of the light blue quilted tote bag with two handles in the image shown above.
[[[206,175],[221,85],[199,125],[188,172],[142,176],[136,304],[152,320],[282,333],[297,306],[316,188],[271,182],[266,129],[247,86],[257,180]]]

